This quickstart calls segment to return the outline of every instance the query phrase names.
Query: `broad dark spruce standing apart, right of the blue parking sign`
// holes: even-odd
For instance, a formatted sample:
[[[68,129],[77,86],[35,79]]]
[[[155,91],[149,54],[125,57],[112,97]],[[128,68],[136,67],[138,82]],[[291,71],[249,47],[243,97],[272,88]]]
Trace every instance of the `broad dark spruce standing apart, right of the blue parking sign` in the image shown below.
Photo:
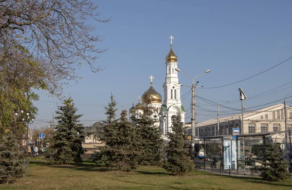
[[[52,163],[81,163],[81,154],[84,153],[81,136],[83,125],[78,123],[78,119],[82,115],[76,114],[72,98],[65,100],[63,106],[58,106],[58,110],[56,114],[59,115],[55,117],[58,124],[47,152],[51,154]]]

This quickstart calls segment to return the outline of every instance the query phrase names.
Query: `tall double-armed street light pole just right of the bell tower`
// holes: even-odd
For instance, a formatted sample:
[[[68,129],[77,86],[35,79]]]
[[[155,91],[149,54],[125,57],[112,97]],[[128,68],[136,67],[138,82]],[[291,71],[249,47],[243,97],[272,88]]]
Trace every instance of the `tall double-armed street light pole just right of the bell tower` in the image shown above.
[[[192,153],[192,156],[191,157],[194,159],[195,158],[195,155],[194,155],[194,153],[195,153],[195,142],[194,141],[195,141],[195,133],[196,133],[196,131],[195,131],[195,129],[196,129],[195,128],[196,127],[195,91],[196,91],[196,88],[199,87],[199,86],[197,87],[198,82],[196,83],[196,85],[194,84],[194,80],[195,80],[195,78],[197,78],[199,76],[202,76],[202,75],[204,75],[206,73],[209,73],[210,70],[206,70],[204,73],[202,73],[199,76],[195,76],[194,78],[186,75],[180,69],[175,69],[175,70],[180,72],[180,73],[182,73],[183,75],[189,77],[190,79],[192,79],[192,87],[191,87],[191,89],[192,89],[192,118],[191,118],[191,121],[192,121],[192,125],[191,125],[192,126],[192,136],[191,136],[191,142],[192,142],[192,144],[191,144],[191,153]],[[198,135],[199,135],[199,133],[198,133]]]

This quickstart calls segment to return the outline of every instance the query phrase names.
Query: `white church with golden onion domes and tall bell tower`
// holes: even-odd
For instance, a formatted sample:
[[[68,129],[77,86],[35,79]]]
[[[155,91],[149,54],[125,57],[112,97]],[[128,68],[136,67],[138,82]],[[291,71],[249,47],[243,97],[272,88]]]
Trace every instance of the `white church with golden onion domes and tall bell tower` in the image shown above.
[[[154,113],[153,118],[157,120],[156,126],[160,127],[160,131],[163,135],[172,132],[172,121],[180,113],[182,116],[182,122],[184,123],[184,108],[181,100],[181,84],[179,83],[178,72],[175,70],[178,68],[178,57],[175,55],[172,49],[172,39],[170,36],[170,51],[165,57],[165,81],[162,85],[164,89],[164,97],[160,95],[153,88],[153,76],[150,78],[150,88],[141,96],[139,96],[138,104],[129,109],[129,117],[143,114],[142,107],[145,106],[144,96],[151,100],[151,106]],[[142,101],[142,103],[141,103]]]

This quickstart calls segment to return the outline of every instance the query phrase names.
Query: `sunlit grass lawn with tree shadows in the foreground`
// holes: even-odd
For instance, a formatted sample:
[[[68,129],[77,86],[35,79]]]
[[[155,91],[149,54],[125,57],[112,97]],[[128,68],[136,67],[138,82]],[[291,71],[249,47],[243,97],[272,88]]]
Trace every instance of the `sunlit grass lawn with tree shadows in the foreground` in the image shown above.
[[[259,177],[234,177],[193,171],[174,176],[153,166],[132,172],[111,171],[85,161],[80,165],[47,166],[30,162],[25,176],[0,190],[292,190],[292,179],[263,181]]]

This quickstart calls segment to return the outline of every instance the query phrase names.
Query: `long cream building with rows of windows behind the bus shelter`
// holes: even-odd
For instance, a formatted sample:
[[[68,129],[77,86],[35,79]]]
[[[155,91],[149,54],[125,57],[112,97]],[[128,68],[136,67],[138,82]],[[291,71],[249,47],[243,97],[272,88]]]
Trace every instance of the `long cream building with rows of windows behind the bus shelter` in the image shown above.
[[[287,130],[292,130],[292,107],[286,107]],[[242,127],[243,126],[243,127]],[[218,119],[209,119],[196,124],[200,136],[216,136],[233,134],[233,129],[240,129],[241,134],[267,133],[286,131],[284,105],[277,104],[261,110],[243,114],[235,114]]]

